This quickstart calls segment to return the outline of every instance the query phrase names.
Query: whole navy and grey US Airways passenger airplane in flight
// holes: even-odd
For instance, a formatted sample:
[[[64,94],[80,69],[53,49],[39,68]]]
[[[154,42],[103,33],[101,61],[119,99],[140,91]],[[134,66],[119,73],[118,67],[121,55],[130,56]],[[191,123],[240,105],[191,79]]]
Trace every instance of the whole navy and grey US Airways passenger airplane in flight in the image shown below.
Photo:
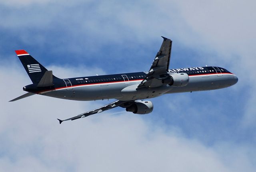
[[[170,69],[172,40],[165,38],[148,72],[57,78],[25,50],[16,50],[33,84],[23,87],[28,92],[10,102],[40,94],[68,100],[109,100],[116,101],[77,116],[60,120],[76,120],[98,114],[112,108],[125,108],[134,114],[148,114],[153,110],[150,98],[164,94],[216,90],[238,82],[236,75],[217,66]]]

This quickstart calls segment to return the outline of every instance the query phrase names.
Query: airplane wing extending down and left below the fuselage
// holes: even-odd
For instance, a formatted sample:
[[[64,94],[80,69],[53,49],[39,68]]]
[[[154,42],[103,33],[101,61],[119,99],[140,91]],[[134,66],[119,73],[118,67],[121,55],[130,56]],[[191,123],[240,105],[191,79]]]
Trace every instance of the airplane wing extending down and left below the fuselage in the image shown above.
[[[100,108],[97,108],[97,109],[94,109],[94,110],[90,110],[88,112],[84,112],[78,116],[74,116],[72,118],[68,118],[66,120],[59,120],[60,124],[63,122],[63,121],[68,121],[68,120],[76,120],[76,119],[79,119],[79,118],[84,118],[86,116],[90,116],[90,115],[93,115],[93,114],[98,114],[100,112],[103,112],[105,110],[109,110],[109,109],[112,109],[112,108],[116,108],[118,106],[124,106],[124,104],[126,103],[129,103],[129,102],[134,102],[134,100],[132,101],[121,101],[121,100],[116,100],[115,102],[112,102],[110,104],[106,104],[105,106],[102,106]]]

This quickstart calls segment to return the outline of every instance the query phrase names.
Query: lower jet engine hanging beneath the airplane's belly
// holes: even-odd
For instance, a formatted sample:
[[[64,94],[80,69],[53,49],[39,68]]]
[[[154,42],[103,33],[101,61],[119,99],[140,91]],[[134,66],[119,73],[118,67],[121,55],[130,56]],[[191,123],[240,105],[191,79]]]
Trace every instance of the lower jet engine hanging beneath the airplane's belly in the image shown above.
[[[153,111],[153,104],[148,100],[136,100],[134,104],[126,108],[126,111],[134,114],[149,114]]]

